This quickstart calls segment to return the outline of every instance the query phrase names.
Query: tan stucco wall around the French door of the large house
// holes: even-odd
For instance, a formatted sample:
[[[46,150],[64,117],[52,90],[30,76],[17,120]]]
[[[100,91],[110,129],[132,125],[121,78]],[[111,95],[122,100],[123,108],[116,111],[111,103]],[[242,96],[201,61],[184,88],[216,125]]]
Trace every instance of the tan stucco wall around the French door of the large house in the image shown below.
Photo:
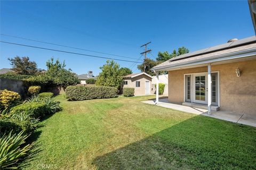
[[[242,74],[237,77],[239,67]],[[256,60],[212,65],[219,71],[220,109],[256,115]],[[169,71],[169,101],[182,103],[184,100],[184,74],[207,72],[207,67]]]

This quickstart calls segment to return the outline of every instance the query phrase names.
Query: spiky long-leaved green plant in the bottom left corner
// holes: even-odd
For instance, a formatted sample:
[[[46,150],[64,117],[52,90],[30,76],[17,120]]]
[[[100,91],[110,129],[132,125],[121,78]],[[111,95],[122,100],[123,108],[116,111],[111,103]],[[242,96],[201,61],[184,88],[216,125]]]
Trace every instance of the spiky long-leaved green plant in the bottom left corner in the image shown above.
[[[4,134],[0,138],[0,167],[1,169],[19,169],[18,161],[25,158],[31,145],[25,145],[28,135],[23,131],[18,134]]]

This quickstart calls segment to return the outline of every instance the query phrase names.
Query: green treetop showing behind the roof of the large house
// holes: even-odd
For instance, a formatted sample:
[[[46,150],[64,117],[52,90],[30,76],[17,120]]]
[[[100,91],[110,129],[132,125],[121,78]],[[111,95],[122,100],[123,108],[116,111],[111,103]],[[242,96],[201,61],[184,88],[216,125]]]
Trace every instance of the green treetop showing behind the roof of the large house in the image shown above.
[[[186,53],[189,53],[189,50],[186,47],[178,48],[178,53],[175,49],[172,51],[171,54],[169,54],[168,52],[158,52],[158,55],[156,57],[156,61],[159,61],[159,62],[163,63],[167,60],[170,60],[173,57],[176,57],[176,56],[179,56],[179,55],[182,55],[182,54],[186,54]]]

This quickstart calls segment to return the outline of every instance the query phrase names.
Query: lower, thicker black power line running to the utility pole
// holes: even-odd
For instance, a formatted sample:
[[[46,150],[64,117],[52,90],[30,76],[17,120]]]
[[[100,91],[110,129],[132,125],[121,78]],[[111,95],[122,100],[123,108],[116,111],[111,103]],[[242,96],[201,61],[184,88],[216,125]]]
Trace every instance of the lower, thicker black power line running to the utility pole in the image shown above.
[[[116,58],[109,58],[109,57],[101,57],[101,56],[95,56],[95,55],[87,55],[87,54],[82,54],[82,53],[67,52],[67,51],[58,50],[58,49],[51,49],[51,48],[29,46],[29,45],[25,45],[25,44],[10,43],[10,42],[7,42],[7,41],[0,41],[0,42],[1,43],[6,43],[6,44],[18,45],[18,46],[25,46],[25,47],[39,48],[39,49],[45,49],[45,50],[52,50],[52,51],[61,52],[61,53],[69,53],[69,54],[83,55],[83,56],[89,56],[89,57],[105,58],[105,59],[109,59],[109,60],[118,60],[118,61],[123,61],[123,62],[141,63],[141,62],[135,62],[135,61],[129,61],[129,60],[121,60],[121,59],[116,59]]]

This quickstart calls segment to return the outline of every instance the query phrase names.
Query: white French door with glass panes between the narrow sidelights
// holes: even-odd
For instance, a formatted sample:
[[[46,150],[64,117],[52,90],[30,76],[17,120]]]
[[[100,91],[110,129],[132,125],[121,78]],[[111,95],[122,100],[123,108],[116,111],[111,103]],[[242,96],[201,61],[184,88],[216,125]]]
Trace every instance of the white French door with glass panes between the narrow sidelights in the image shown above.
[[[207,74],[193,75],[193,103],[207,104]]]

